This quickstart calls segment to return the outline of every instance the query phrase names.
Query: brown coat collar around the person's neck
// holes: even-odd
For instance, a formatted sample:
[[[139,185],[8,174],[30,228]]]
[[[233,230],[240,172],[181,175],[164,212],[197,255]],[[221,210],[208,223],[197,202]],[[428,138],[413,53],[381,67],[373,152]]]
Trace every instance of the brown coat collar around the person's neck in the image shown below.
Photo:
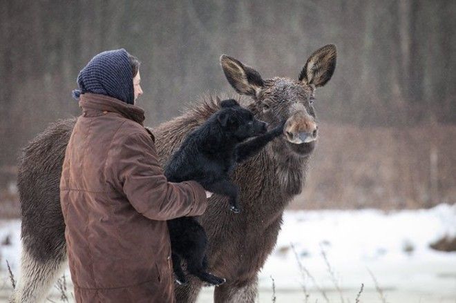
[[[107,111],[120,114],[141,125],[144,122],[144,110],[142,108],[105,95],[85,92],[79,97],[79,107],[82,108],[83,113]]]

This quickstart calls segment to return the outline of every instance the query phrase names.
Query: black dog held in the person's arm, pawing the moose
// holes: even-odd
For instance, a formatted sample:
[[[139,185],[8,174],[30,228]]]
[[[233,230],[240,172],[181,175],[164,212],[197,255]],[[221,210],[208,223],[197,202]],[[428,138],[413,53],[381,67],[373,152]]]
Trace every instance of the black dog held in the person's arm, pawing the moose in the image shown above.
[[[231,211],[239,213],[238,186],[229,181],[229,174],[236,163],[255,155],[281,135],[283,124],[266,133],[267,124],[255,119],[236,100],[224,100],[220,105],[222,108],[217,113],[184,139],[164,168],[164,175],[169,182],[196,180],[212,193],[229,196]],[[245,141],[250,137],[256,138]],[[169,220],[168,228],[178,283],[186,282],[181,257],[187,262],[187,271],[200,280],[213,285],[225,282],[206,271],[207,236],[195,217]]]

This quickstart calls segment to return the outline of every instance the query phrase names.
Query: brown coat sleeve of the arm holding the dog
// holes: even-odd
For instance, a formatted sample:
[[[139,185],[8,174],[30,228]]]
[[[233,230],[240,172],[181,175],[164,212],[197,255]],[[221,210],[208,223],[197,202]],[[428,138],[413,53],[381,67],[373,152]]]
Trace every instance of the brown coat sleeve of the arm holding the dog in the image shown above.
[[[106,159],[106,181],[119,188],[131,205],[149,219],[168,220],[202,215],[205,189],[195,181],[168,182],[147,133],[116,139]]]

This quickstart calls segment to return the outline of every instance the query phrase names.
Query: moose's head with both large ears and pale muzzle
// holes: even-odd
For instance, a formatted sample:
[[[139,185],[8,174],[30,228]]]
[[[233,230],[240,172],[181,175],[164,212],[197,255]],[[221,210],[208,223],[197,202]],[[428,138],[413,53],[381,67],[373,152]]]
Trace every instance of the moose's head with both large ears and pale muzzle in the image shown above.
[[[286,120],[283,140],[294,155],[312,153],[319,128],[313,106],[315,90],[330,81],[334,73],[336,46],[329,44],[316,50],[298,79],[263,79],[254,68],[227,55],[220,57],[220,64],[236,92],[253,99],[251,110],[258,119],[272,126]]]

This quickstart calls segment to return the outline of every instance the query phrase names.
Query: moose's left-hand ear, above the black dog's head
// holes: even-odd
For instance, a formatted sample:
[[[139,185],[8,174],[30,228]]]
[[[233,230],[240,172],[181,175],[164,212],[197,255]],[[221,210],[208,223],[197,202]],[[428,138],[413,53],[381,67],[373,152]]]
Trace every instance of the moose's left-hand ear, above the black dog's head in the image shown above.
[[[229,84],[240,94],[256,95],[256,92],[264,85],[263,79],[256,70],[234,58],[222,55],[220,65]]]

